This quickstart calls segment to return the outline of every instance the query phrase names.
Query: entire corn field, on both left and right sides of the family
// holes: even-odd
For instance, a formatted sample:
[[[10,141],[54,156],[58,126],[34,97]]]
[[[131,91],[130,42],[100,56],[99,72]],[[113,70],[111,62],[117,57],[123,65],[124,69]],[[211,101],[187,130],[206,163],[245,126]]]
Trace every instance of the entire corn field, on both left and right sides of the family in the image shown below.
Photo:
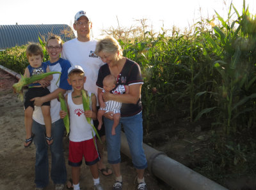
[[[166,113],[183,112],[191,123],[211,119],[212,142],[205,152],[207,161],[198,170],[205,175],[230,172],[223,168],[252,172],[256,168],[256,18],[245,2],[242,13],[230,4],[227,20],[218,13],[216,18],[218,24],[198,22],[186,35],[143,30],[134,38],[122,38],[120,31],[114,37],[124,56],[141,67],[145,134],[157,129]],[[0,52],[0,64],[23,73],[28,65],[25,49]],[[47,56],[45,52],[45,60]]]

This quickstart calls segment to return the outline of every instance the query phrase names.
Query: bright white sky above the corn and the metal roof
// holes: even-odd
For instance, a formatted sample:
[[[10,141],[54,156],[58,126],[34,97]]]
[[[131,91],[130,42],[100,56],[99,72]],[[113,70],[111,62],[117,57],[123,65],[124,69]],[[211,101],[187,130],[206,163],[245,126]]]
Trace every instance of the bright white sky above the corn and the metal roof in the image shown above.
[[[243,0],[232,1],[242,13]],[[139,25],[136,20],[147,19],[154,31],[172,26],[193,25],[198,19],[212,18],[214,10],[226,17],[231,0],[7,0],[0,6],[0,25],[13,24],[67,24],[72,26],[77,11],[84,10],[93,24],[93,36],[110,27],[129,28]],[[246,0],[250,13],[256,13],[256,1]]]

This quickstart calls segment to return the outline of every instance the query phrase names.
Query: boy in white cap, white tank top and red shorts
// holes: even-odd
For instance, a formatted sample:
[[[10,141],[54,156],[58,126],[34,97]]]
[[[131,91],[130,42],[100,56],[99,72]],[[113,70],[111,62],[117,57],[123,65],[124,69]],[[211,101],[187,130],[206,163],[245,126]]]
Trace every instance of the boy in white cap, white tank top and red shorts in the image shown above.
[[[68,69],[68,84],[72,85],[73,91],[65,96],[68,113],[61,110],[60,117],[63,119],[69,114],[70,134],[68,164],[72,166],[72,182],[74,189],[80,189],[79,175],[83,157],[85,164],[90,166],[94,184],[93,188],[103,189],[100,185],[97,167],[97,162],[100,159],[99,153],[93,143],[93,138],[96,140],[95,132],[92,126],[86,121],[86,117],[90,117],[92,118],[91,124],[93,124],[93,119],[97,118],[96,96],[86,91],[87,96],[91,99],[91,110],[84,110],[82,90],[84,89],[85,82],[86,77],[84,77],[84,71],[81,66],[76,65]]]

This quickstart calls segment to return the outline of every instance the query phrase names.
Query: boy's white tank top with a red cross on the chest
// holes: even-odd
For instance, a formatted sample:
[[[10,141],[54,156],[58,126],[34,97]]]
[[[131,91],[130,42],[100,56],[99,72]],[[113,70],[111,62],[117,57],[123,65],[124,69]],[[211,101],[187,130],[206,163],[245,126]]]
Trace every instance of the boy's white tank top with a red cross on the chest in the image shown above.
[[[88,96],[91,98],[91,92],[88,92]],[[82,142],[89,140],[95,136],[92,126],[88,124],[84,115],[83,104],[76,105],[72,101],[72,92],[68,92],[68,108],[69,108],[69,119],[70,119],[70,134],[69,140],[72,142]],[[90,101],[90,109],[92,109],[92,101]],[[93,120],[91,119],[91,124]],[[93,135],[92,135],[93,131]]]

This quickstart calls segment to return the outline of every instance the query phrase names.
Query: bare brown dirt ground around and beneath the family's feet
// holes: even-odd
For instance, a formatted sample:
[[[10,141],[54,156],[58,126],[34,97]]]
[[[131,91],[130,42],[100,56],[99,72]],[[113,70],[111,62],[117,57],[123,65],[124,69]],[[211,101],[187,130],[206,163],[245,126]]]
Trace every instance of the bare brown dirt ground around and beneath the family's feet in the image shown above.
[[[17,99],[12,92],[12,85],[17,82],[0,69],[0,189],[30,190],[35,189],[35,145],[24,148],[25,128],[23,103]],[[68,138],[63,139],[65,161],[67,165],[67,178],[71,177],[71,168],[67,164]],[[105,151],[106,154],[106,151]],[[105,156],[106,157],[106,156]],[[51,152],[49,151],[49,163],[51,163]],[[104,163],[107,163],[106,160]],[[107,164],[109,168],[109,164]],[[123,189],[135,189],[134,179],[136,172],[132,167],[131,160],[122,155]],[[100,174],[100,181],[104,189],[111,189],[115,180],[114,175],[105,177]],[[148,189],[171,189],[163,182],[159,182],[156,177],[145,172],[145,180]],[[89,168],[83,164],[81,167],[80,184],[83,189],[92,189],[92,175]],[[46,189],[54,189],[50,180]],[[66,189],[66,188],[65,188]]]

